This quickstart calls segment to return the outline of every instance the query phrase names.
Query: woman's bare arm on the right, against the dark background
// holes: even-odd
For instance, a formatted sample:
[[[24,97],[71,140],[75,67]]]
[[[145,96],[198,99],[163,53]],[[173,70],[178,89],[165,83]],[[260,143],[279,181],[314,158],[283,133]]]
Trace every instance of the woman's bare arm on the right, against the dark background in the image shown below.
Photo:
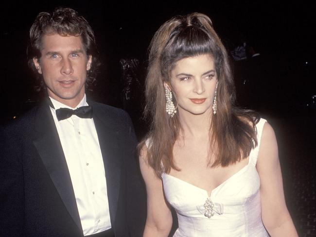
[[[268,123],[263,127],[257,170],[261,182],[261,209],[265,228],[271,237],[297,237],[285,204],[276,136]]]

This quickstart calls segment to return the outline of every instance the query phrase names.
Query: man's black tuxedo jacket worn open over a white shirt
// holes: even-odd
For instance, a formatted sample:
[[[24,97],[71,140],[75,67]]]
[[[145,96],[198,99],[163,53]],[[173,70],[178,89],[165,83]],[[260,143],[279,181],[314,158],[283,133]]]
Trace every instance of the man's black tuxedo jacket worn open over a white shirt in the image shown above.
[[[121,109],[88,101],[103,156],[116,237],[142,235],[146,201],[136,136]],[[64,152],[48,101],[3,129],[0,236],[80,237],[82,227]]]

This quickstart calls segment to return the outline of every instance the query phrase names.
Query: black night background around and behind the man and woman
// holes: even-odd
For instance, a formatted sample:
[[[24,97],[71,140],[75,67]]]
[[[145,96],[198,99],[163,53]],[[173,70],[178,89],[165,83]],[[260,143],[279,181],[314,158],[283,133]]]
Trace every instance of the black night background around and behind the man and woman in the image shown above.
[[[1,3],[1,124],[34,106],[35,76],[27,67],[28,31],[39,12],[68,6],[82,14],[95,32],[103,63],[98,85],[89,96],[126,109],[139,138],[146,132],[140,119],[147,48],[158,27],[175,15],[202,12],[211,17],[228,51],[239,34],[260,59],[234,61],[240,106],[257,110],[274,127],[280,149],[286,201],[300,236],[316,236],[316,19],[313,4],[218,1],[10,1]],[[120,59],[139,61],[140,86],[123,104]],[[134,76],[135,76],[134,75]]]

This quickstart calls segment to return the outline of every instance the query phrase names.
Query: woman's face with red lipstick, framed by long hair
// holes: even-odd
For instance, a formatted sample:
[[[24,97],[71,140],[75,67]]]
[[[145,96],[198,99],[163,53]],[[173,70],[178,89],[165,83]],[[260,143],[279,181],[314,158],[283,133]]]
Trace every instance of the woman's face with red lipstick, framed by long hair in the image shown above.
[[[183,58],[171,71],[171,86],[176,94],[179,115],[211,115],[217,83],[215,64],[210,54]]]

